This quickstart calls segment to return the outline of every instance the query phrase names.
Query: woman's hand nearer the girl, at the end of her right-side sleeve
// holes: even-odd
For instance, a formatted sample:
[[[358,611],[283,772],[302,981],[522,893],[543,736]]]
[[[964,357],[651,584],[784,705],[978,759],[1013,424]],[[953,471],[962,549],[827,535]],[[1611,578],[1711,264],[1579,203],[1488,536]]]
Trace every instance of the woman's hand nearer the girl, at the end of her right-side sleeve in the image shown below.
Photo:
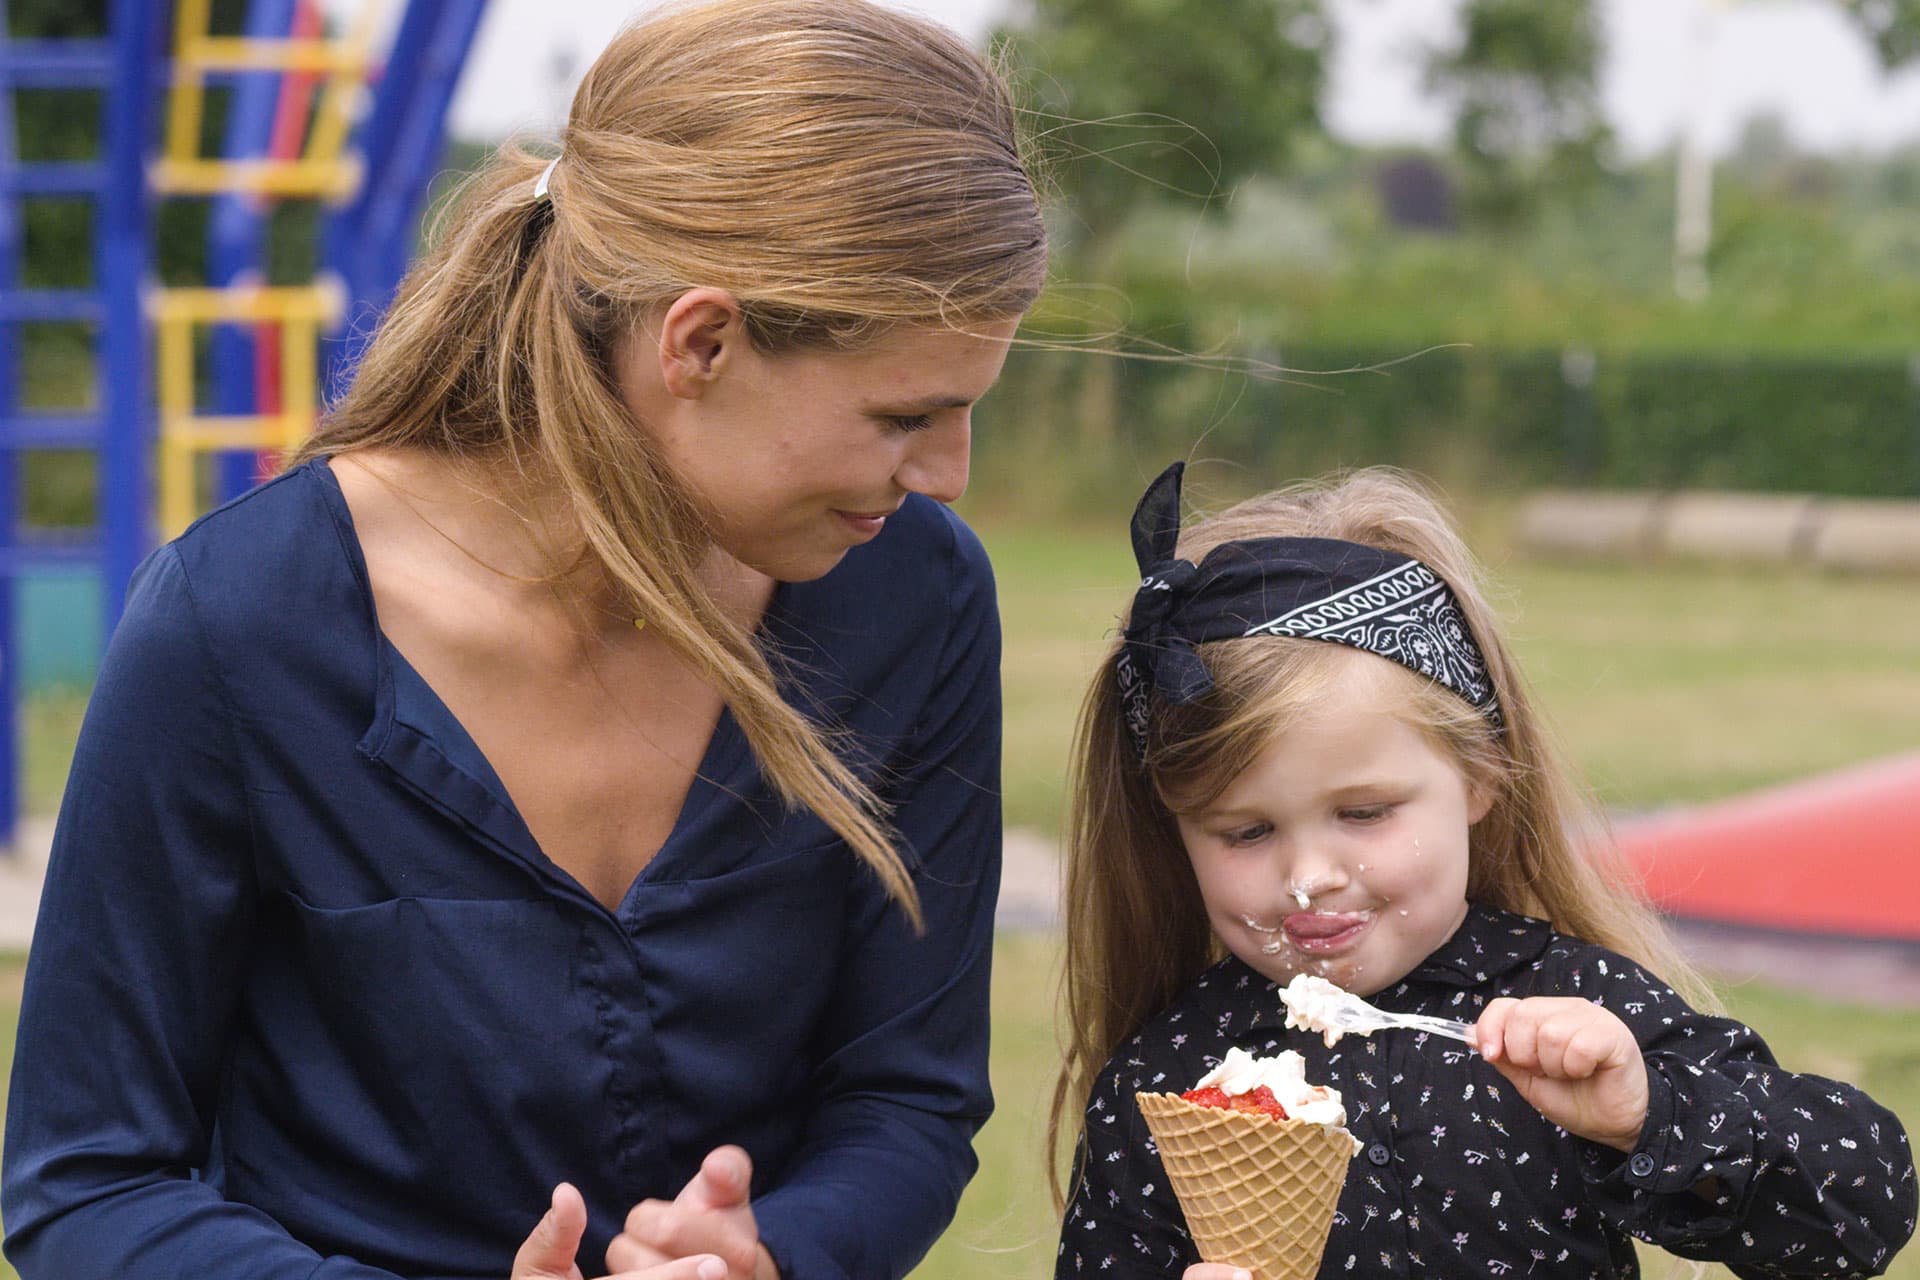
[[[714,1148],[672,1201],[643,1199],[626,1230],[607,1245],[607,1267],[655,1267],[691,1255],[726,1261],[728,1280],[780,1280],[747,1203],[753,1161],[739,1148]],[[649,1272],[651,1276],[651,1272]]]

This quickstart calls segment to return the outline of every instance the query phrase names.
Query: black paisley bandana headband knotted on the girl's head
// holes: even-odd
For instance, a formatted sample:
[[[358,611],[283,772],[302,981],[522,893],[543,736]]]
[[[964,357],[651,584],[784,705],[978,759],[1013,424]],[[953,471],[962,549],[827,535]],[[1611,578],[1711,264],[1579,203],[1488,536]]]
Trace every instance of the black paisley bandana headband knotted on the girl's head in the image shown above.
[[[1446,685],[1501,727],[1480,647],[1446,581],[1409,557],[1331,537],[1252,537],[1221,543],[1200,564],[1175,558],[1181,472],[1175,462],[1133,509],[1140,587],[1119,651],[1119,708],[1137,756],[1146,756],[1154,693],[1192,702],[1213,687],[1196,645],[1248,635],[1296,635],[1365,649]]]

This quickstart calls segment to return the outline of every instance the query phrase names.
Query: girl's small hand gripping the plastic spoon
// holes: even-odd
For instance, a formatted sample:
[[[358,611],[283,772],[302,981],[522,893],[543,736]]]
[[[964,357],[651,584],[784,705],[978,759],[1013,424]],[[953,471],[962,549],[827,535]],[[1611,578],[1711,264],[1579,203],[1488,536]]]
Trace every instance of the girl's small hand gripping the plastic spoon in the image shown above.
[[[1475,1023],[1480,1057],[1567,1132],[1632,1151],[1647,1123],[1647,1063],[1634,1032],[1592,1000],[1501,996]]]

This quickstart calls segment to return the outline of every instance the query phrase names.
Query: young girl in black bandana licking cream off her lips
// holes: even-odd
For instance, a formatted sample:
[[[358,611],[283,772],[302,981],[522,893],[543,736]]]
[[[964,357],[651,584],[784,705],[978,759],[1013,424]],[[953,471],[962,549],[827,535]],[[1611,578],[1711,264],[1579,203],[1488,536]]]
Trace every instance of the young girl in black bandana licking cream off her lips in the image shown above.
[[[1233,1046],[1346,1098],[1327,1276],[1634,1276],[1630,1238],[1884,1270],[1914,1228],[1905,1130],[1655,977],[1697,990],[1586,856],[1599,827],[1438,507],[1373,470],[1181,535],[1179,486],[1135,512],[1144,580],[1075,750],[1056,1274],[1246,1280],[1196,1265],[1133,1102]],[[1286,1031],[1296,973],[1476,1023],[1478,1054]]]

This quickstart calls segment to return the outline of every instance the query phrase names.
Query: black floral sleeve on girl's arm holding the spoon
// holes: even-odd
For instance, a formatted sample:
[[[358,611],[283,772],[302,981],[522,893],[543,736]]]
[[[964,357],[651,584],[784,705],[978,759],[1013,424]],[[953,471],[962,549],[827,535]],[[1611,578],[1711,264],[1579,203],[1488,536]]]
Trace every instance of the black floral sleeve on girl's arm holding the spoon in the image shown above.
[[[1632,1153],[1584,1148],[1596,1205],[1634,1236],[1741,1276],[1878,1276],[1914,1230],[1914,1163],[1891,1111],[1797,1075],[1749,1027],[1690,1009],[1619,956],[1592,998],[1634,1029],[1647,1123]]]

